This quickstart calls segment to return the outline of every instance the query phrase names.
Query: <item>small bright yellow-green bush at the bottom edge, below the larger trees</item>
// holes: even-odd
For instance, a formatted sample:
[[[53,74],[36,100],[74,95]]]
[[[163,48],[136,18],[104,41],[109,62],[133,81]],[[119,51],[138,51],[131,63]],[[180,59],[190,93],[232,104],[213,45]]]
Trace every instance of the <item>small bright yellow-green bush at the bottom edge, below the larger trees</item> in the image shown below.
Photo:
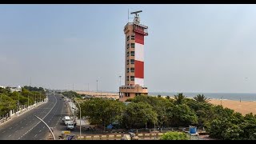
[[[183,132],[174,131],[162,134],[160,140],[189,140],[189,138]]]

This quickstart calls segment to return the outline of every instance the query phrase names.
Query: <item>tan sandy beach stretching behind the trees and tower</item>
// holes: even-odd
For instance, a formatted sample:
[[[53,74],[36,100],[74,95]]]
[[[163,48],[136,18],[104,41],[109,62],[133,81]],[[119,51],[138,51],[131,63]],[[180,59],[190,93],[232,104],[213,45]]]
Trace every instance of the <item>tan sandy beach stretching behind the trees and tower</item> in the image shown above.
[[[106,92],[93,92],[93,91],[76,91],[78,94],[87,94],[94,97],[107,97],[118,99],[118,93],[106,93]],[[165,96],[162,96],[165,98]],[[221,105],[220,99],[210,99],[210,103],[214,105]],[[234,100],[222,100],[222,106],[237,111],[243,115],[249,114],[250,112],[256,114],[256,102],[249,101],[234,101]]]

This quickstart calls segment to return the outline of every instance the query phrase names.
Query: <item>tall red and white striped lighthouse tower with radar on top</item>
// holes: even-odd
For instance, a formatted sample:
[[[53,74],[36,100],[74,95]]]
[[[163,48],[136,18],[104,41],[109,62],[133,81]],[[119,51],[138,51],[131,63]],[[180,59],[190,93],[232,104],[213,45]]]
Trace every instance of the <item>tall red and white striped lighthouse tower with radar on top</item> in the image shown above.
[[[140,24],[136,11],[134,22],[128,22],[125,26],[126,34],[126,73],[125,86],[119,87],[119,100],[126,101],[127,98],[134,98],[137,95],[148,94],[144,86],[144,37],[148,35],[147,26]]]

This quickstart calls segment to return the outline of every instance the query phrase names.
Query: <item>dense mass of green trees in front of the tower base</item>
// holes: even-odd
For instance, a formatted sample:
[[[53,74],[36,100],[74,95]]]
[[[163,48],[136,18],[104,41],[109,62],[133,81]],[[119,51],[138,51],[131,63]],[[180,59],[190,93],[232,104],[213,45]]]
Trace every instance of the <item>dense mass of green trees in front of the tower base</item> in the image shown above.
[[[234,112],[210,104],[209,98],[198,94],[186,98],[182,93],[173,98],[137,96],[125,104],[108,98],[89,98],[81,102],[82,116],[102,127],[118,123],[119,128],[140,129],[178,126],[205,128],[210,138],[222,140],[255,140],[256,115]],[[176,133],[162,139],[174,138]],[[177,133],[178,134],[178,133]],[[182,137],[180,137],[182,138]]]

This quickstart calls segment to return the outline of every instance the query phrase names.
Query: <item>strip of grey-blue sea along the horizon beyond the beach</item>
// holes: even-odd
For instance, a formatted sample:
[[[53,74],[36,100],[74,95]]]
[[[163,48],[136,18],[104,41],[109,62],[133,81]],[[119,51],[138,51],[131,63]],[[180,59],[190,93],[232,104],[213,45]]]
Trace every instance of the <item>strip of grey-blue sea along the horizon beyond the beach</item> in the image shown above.
[[[173,97],[174,94],[178,94],[175,92],[149,92],[149,95],[158,96],[160,94],[161,96],[170,96]],[[229,100],[235,100],[239,101],[241,98],[241,101],[256,101],[256,94],[252,93],[182,93],[188,98],[194,98],[197,94],[203,94],[207,98],[211,99],[229,99]]]

